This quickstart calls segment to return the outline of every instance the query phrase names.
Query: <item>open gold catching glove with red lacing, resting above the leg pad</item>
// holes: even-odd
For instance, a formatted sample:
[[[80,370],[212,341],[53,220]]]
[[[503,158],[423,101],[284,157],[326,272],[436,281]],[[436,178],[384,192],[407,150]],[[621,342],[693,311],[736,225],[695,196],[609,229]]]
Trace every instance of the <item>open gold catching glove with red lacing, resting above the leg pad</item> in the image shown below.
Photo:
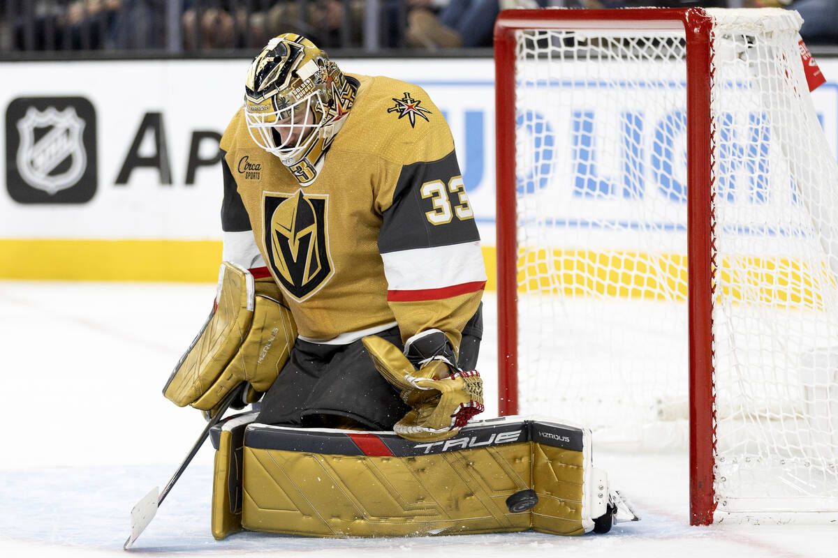
[[[405,352],[377,335],[364,338],[375,368],[411,407],[393,430],[415,442],[451,438],[483,412],[483,381],[477,371],[462,371],[440,330],[426,330],[407,340]],[[418,366],[418,370],[416,366]]]

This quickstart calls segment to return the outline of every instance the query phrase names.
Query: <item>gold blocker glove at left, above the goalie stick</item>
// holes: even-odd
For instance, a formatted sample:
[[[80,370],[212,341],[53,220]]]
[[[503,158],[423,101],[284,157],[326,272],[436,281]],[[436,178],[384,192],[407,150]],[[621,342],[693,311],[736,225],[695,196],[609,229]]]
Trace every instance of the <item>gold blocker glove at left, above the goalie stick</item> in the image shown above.
[[[178,407],[209,411],[241,382],[250,382],[246,402],[258,399],[279,376],[297,338],[291,311],[256,294],[244,268],[224,262],[215,308],[175,366],[163,395]]]

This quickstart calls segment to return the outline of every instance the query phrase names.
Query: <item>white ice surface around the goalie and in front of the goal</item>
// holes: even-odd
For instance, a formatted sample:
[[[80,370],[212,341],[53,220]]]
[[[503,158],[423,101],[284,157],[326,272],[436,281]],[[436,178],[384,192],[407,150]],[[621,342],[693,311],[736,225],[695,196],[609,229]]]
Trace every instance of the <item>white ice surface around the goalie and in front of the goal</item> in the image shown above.
[[[5,432],[0,556],[125,556],[132,506],[162,487],[204,420],[161,390],[212,304],[213,284],[0,281]],[[494,297],[478,370],[494,392]],[[489,400],[487,417],[497,406]],[[572,418],[572,417],[568,417]],[[594,441],[596,443],[596,440]],[[596,448],[596,446],[595,446]],[[713,525],[687,519],[685,453],[595,449],[643,518],[608,535],[536,533],[323,540],[209,533],[209,443],[129,553],[289,556],[835,556],[838,525]]]

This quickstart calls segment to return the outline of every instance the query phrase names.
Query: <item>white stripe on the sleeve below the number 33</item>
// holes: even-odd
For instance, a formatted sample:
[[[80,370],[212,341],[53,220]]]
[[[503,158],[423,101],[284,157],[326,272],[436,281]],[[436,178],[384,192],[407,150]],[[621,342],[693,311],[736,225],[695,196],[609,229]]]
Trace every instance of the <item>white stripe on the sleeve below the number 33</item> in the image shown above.
[[[486,280],[479,242],[382,253],[390,290],[441,289]]]

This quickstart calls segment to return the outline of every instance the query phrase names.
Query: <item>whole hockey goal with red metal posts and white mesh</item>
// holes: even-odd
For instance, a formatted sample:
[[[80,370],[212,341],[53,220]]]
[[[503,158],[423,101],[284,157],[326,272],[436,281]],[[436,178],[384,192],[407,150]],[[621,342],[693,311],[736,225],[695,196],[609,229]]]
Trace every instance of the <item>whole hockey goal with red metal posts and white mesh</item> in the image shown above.
[[[800,23],[640,8],[496,27],[499,408],[597,445],[690,443],[694,524],[838,512],[838,166]]]

